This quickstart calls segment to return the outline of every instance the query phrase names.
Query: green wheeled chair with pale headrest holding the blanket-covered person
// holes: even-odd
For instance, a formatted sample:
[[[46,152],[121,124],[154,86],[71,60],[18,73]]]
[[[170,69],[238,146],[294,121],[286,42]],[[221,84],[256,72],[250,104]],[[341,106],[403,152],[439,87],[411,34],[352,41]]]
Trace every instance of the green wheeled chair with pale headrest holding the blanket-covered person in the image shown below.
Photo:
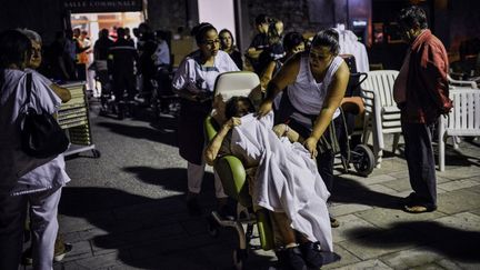
[[[252,89],[258,88],[260,80],[258,76],[249,71],[226,72],[216,81],[214,96],[221,94],[223,100],[233,96],[249,96]],[[250,97],[259,101],[260,98]],[[220,108],[217,108],[220,110]],[[210,141],[217,134],[219,124],[212,116],[204,120],[206,138]],[[231,220],[222,217],[219,212],[212,211],[208,218],[208,231],[212,237],[218,236],[221,227],[230,227],[237,231],[239,246],[233,250],[233,266],[236,269],[243,269],[248,258],[250,241],[253,239],[253,226],[257,226],[260,238],[260,247],[263,250],[273,249],[273,232],[266,209],[254,209],[252,198],[249,193],[246,170],[241,161],[233,156],[219,158],[213,169],[220,177],[223,190],[227,196],[238,202],[237,217]]]

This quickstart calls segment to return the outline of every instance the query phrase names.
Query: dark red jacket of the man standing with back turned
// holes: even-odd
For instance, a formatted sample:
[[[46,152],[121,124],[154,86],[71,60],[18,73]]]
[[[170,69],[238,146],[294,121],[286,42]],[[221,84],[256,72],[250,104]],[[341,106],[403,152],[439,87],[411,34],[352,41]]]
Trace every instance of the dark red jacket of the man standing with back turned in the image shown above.
[[[450,111],[448,70],[442,42],[430,30],[424,30],[411,44],[402,121],[432,123]]]

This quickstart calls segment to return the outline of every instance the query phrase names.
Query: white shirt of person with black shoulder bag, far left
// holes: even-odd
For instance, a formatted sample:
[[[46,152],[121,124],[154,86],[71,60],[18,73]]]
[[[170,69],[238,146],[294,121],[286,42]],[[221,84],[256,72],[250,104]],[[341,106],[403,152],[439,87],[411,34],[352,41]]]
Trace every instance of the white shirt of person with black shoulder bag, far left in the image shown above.
[[[0,192],[21,194],[57,188],[70,181],[63,156],[36,159],[20,149],[20,124],[27,99],[27,73],[4,70],[0,91]],[[32,72],[30,108],[56,113],[61,100],[37,72]]]

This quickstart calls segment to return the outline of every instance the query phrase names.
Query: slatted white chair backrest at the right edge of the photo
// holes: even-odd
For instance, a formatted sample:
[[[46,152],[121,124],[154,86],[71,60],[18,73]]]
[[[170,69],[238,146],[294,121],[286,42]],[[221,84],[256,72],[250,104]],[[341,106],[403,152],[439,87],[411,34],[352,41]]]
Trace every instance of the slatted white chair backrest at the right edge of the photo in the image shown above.
[[[480,90],[451,89],[453,109],[446,121],[450,136],[480,136]]]

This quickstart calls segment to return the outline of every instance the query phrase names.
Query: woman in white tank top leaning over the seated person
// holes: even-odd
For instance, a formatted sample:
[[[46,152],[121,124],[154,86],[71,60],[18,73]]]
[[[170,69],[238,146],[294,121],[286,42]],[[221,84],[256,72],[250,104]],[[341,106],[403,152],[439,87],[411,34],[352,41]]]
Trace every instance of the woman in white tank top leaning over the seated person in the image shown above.
[[[339,151],[336,126],[341,127],[340,102],[350,72],[339,53],[339,37],[333,29],[314,37],[309,51],[294,54],[267,87],[258,117],[267,116],[276,96],[283,91],[278,121],[288,123],[306,138],[303,146],[317,159],[327,189],[332,193],[333,159]],[[339,222],[330,217],[332,227]]]

